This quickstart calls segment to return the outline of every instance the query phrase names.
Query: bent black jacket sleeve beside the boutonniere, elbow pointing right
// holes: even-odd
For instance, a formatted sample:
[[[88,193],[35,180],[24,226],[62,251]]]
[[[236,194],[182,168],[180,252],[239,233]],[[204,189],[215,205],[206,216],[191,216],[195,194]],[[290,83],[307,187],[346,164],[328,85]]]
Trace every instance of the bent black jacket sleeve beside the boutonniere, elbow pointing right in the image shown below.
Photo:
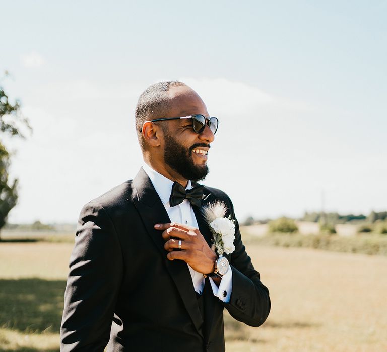
[[[246,253],[233,205],[229,198],[228,201],[231,205],[231,218],[235,220],[235,250],[230,257],[232,292],[230,302],[224,306],[236,320],[250,326],[260,326],[270,312],[269,290],[262,284],[260,273],[254,269]]]

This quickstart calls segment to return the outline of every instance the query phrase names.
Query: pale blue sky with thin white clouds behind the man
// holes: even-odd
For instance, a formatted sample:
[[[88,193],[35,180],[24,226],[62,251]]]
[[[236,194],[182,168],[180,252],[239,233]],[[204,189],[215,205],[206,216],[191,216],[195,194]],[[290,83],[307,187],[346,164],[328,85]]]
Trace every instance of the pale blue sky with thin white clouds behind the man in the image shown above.
[[[33,127],[0,137],[19,179],[9,222],[74,223],[134,178],[137,99],[175,79],[220,120],[203,183],[239,220],[387,209],[386,1],[0,6],[0,85]]]

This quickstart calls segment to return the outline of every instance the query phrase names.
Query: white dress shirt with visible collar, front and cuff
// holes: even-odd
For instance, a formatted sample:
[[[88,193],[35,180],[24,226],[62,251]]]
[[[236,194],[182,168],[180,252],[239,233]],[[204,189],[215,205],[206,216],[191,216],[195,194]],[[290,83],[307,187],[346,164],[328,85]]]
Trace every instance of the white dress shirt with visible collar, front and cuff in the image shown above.
[[[147,164],[144,164],[143,169],[151,179],[153,187],[159,195],[171,222],[178,222],[180,224],[187,224],[189,226],[198,228],[198,222],[196,220],[195,213],[193,212],[192,206],[187,199],[184,199],[182,203],[174,207],[169,205],[169,197],[171,195],[173,181],[156,172]],[[189,190],[191,188],[191,182],[188,181],[186,189]],[[191,274],[193,288],[196,292],[202,294],[205,284],[203,274],[193,270],[188,264],[187,266],[189,273]],[[217,296],[221,301],[228,303],[230,301],[232,290],[231,268],[225,275],[223,275],[219,287],[215,284],[212,278],[209,279],[214,295]]]

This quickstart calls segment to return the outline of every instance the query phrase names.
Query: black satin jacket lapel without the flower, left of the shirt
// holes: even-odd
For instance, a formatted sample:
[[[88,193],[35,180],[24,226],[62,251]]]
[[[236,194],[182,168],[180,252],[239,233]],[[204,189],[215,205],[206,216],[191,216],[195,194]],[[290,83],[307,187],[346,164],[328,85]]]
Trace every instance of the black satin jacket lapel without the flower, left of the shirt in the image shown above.
[[[171,222],[168,213],[155,191],[151,180],[142,168],[133,179],[133,186],[137,193],[133,198],[134,205],[139,212],[149,236],[164,257],[165,266],[176,285],[193,324],[199,334],[204,337],[202,332],[203,318],[199,310],[188,267],[182,260],[170,261],[167,259],[167,251],[164,249],[164,240],[161,237],[161,231],[154,228],[154,225],[157,223]]]

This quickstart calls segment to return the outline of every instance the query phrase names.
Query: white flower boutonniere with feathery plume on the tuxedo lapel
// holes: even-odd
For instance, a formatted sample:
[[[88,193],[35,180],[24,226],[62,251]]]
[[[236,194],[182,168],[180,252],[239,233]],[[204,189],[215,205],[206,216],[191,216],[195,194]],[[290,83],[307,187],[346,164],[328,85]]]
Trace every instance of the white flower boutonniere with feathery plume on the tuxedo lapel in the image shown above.
[[[212,249],[218,254],[231,254],[235,250],[235,220],[231,215],[225,217],[227,206],[221,201],[209,203],[202,208],[202,213],[213,235]]]

